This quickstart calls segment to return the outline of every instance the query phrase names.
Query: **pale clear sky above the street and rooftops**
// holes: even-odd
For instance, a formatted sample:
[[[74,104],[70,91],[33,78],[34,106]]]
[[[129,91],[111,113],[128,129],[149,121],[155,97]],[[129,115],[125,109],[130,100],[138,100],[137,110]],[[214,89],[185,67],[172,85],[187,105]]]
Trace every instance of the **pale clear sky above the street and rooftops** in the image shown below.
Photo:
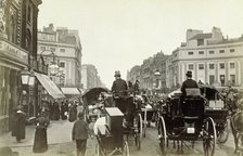
[[[78,29],[82,64],[95,65],[111,88],[115,70],[127,70],[159,51],[171,54],[189,28],[243,35],[243,0],[42,0],[38,28]]]

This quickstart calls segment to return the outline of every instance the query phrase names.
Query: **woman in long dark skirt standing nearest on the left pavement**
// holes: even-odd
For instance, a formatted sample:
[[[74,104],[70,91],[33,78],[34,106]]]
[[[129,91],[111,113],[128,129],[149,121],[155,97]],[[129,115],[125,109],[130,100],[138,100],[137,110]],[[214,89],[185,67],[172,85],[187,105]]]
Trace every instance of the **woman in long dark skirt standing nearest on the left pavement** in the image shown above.
[[[38,122],[36,127],[33,152],[43,153],[48,150],[48,140],[47,140],[48,118],[43,115],[43,112],[40,114],[37,121]]]

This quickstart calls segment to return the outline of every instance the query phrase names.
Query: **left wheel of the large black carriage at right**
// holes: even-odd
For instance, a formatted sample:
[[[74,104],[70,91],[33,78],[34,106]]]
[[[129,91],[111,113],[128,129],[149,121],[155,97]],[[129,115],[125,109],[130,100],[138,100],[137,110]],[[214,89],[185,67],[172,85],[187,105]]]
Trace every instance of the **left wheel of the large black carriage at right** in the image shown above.
[[[158,130],[159,148],[161,148],[162,155],[165,156],[166,155],[167,134],[166,134],[166,127],[165,127],[164,117],[159,117],[157,130]]]

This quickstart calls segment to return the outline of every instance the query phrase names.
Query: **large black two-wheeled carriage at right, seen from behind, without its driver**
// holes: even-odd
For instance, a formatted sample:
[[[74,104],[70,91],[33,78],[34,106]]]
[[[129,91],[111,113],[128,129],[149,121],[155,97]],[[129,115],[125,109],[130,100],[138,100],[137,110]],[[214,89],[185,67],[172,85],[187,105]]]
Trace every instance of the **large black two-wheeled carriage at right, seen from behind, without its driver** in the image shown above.
[[[175,93],[167,99],[158,121],[162,155],[166,155],[169,141],[174,141],[174,146],[177,142],[178,152],[183,152],[187,142],[203,141],[205,155],[214,155],[217,136],[214,119],[205,116],[207,102],[200,89],[187,89],[187,96]]]

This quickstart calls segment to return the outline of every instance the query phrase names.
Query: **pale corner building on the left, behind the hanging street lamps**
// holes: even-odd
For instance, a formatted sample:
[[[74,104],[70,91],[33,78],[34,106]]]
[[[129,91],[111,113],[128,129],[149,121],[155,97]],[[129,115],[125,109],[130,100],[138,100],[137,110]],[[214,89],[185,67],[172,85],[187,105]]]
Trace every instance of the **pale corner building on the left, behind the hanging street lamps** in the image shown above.
[[[49,64],[48,75],[60,87],[81,86],[81,43],[78,30],[53,24],[38,31],[38,55]]]

